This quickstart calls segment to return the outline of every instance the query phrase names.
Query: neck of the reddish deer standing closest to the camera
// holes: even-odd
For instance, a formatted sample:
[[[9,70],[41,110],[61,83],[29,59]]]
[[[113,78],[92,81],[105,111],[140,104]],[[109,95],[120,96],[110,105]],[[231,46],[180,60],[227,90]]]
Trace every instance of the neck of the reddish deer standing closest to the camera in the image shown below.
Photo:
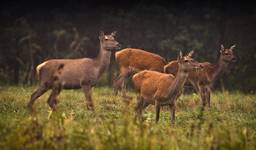
[[[184,87],[184,84],[188,78],[188,72],[184,72],[178,69],[176,77],[169,88],[169,100],[171,103],[175,100],[175,97],[179,95]]]

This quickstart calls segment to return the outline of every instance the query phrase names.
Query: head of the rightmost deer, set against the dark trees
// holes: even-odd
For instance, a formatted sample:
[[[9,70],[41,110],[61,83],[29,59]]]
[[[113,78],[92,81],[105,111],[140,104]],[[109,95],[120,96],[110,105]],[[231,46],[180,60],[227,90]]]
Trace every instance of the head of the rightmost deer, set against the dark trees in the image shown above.
[[[236,56],[233,53],[233,49],[236,47],[236,45],[231,46],[229,49],[225,49],[223,45],[221,45],[220,49],[220,61],[222,63],[231,63],[236,62]]]

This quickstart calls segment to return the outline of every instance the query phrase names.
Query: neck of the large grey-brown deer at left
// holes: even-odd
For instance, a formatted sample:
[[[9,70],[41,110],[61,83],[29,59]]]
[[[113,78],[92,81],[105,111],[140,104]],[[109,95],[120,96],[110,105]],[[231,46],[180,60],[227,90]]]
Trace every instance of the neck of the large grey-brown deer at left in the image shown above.
[[[111,51],[104,49],[102,43],[100,42],[100,51],[95,59],[96,64],[99,67],[99,75],[101,75],[110,64]]]

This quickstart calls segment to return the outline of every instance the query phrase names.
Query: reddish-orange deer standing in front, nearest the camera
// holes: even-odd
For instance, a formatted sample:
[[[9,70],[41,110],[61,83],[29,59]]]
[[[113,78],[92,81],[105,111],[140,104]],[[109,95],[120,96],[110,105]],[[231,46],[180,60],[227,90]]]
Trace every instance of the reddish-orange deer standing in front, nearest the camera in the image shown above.
[[[191,51],[188,55],[193,53]],[[142,116],[142,111],[148,105],[155,105],[156,123],[159,121],[160,107],[168,105],[171,112],[171,124],[175,124],[176,101],[182,93],[188,75],[194,70],[202,68],[193,58],[183,56],[182,52],[177,58],[178,72],[176,76],[157,71],[144,70],[136,73],[132,81],[136,92],[136,116]]]

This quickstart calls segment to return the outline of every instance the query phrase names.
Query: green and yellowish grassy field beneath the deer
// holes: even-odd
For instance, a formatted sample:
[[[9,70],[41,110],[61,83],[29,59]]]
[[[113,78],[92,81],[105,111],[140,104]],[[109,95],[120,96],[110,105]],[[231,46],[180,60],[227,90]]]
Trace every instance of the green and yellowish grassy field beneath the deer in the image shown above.
[[[256,95],[215,92],[212,108],[200,113],[196,94],[177,103],[176,124],[163,108],[158,124],[154,107],[141,123],[134,119],[136,95],[128,105],[109,88],[94,88],[95,112],[88,111],[80,90],[63,91],[57,111],[49,93],[36,101],[31,116],[26,103],[35,87],[0,91],[0,149],[256,149]]]

